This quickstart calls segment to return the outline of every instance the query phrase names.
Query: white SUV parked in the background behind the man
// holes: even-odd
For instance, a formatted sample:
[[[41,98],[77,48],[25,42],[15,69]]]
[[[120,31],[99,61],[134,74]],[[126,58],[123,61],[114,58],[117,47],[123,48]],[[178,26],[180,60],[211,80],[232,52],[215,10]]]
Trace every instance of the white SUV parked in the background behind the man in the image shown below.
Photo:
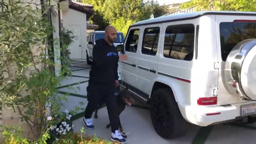
[[[87,50],[86,50],[86,61],[87,64],[92,63],[92,50],[93,46],[96,44],[98,39],[105,38],[105,31],[94,31],[92,33],[89,33],[89,36],[87,37]],[[117,32],[116,41],[114,42],[114,45],[120,45],[124,43],[124,34],[122,32]]]

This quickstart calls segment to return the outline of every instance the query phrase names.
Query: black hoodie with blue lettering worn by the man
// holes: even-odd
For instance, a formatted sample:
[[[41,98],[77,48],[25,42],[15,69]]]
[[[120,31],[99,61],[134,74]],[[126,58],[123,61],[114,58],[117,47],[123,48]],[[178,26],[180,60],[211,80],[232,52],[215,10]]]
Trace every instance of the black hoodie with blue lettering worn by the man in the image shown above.
[[[90,84],[114,86],[118,79],[118,52],[114,45],[109,45],[105,39],[99,39],[93,46],[92,69]]]

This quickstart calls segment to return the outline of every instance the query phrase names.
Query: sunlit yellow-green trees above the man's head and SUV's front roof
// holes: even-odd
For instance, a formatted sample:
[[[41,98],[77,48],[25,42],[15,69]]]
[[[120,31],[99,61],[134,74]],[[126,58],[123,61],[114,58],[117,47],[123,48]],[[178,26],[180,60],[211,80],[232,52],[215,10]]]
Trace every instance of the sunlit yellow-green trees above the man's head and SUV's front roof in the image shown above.
[[[168,13],[168,7],[159,6],[155,1],[142,0],[83,0],[83,3],[92,4],[95,10],[91,23],[99,25],[99,30],[112,25],[126,35],[129,26],[135,22]]]

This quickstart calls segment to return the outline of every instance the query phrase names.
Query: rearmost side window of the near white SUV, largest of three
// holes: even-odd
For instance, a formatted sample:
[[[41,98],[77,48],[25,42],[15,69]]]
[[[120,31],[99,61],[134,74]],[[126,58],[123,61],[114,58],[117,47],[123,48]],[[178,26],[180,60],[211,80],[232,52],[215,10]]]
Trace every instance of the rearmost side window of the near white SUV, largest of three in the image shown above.
[[[164,57],[192,60],[194,55],[194,25],[168,26],[164,37]]]

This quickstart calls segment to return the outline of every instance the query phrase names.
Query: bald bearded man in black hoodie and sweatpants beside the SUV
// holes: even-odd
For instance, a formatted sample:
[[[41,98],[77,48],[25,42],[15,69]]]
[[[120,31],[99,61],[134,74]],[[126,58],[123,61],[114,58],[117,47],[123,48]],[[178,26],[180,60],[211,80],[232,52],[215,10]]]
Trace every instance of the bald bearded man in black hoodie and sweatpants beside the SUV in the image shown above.
[[[99,39],[93,47],[93,63],[90,71],[89,86],[87,87],[88,104],[83,118],[87,129],[94,129],[92,113],[106,102],[109,121],[111,124],[111,140],[125,143],[126,140],[118,131],[119,115],[117,97],[114,92],[118,83],[118,52],[113,43],[116,41],[117,31],[113,26],[105,28],[105,39]],[[126,55],[120,56],[120,59],[127,59]]]

